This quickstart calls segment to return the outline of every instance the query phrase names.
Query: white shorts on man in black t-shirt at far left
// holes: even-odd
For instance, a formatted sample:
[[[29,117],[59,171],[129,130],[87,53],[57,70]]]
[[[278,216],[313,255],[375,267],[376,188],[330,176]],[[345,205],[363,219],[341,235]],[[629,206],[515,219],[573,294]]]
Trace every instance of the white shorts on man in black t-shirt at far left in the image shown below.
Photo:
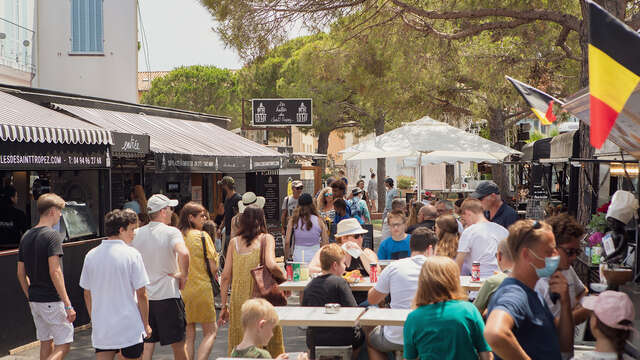
[[[36,337],[40,341],[53,339],[54,345],[73,342],[73,324],[67,320],[67,312],[62,301],[29,302],[33,323],[36,326]]]

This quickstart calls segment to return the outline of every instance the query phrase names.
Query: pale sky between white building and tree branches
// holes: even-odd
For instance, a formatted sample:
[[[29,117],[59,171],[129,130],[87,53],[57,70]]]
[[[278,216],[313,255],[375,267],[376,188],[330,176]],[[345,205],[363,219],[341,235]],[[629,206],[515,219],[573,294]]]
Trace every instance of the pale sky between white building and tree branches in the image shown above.
[[[138,0],[149,48],[151,71],[181,65],[215,65],[240,69],[235,50],[226,48],[211,27],[215,20],[197,0]],[[138,23],[139,36],[142,26]],[[138,52],[138,70],[147,71],[144,51]]]

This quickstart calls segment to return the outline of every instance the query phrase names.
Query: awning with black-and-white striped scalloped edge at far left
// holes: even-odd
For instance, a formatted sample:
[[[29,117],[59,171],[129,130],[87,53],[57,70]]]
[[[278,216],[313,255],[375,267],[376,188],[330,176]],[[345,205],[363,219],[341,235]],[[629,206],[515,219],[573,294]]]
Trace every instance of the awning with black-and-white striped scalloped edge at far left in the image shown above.
[[[0,139],[49,144],[112,144],[111,134],[93,124],[0,91]]]

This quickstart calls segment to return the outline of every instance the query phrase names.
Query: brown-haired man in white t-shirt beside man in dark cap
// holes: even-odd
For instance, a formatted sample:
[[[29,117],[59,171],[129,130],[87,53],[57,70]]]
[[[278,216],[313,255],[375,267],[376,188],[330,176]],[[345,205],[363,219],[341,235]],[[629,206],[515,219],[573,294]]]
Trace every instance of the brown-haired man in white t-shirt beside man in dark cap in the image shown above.
[[[494,271],[499,271],[496,259],[498,242],[509,236],[509,231],[487,220],[480,200],[465,200],[462,203],[461,212],[467,228],[460,236],[456,256],[460,274],[471,274],[472,263],[479,262],[480,276],[489,277]]]

